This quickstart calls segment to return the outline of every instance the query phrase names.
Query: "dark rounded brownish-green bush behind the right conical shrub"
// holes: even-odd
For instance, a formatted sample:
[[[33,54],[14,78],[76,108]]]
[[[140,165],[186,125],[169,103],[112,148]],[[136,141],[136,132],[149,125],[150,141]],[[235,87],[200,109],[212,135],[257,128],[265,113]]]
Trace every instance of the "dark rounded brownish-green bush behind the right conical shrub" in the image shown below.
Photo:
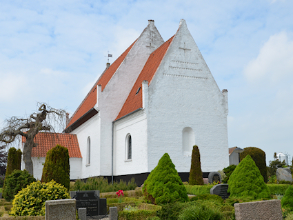
[[[244,148],[244,151],[239,154],[240,160],[242,161],[247,155],[254,160],[256,166],[259,168],[263,180],[267,182],[267,165],[265,162],[265,152],[259,148],[249,147]]]

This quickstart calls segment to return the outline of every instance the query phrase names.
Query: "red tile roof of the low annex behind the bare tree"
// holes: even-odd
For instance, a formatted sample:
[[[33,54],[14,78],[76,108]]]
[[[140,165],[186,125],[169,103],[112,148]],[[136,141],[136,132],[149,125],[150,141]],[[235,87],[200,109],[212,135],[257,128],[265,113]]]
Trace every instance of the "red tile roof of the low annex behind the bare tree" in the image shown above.
[[[22,137],[22,142],[26,142],[26,137]],[[77,141],[77,134],[40,132],[34,137],[34,143],[38,145],[32,148],[32,157],[46,157],[48,150],[60,144],[68,148],[70,158],[82,158],[81,151],[79,150],[79,141]]]

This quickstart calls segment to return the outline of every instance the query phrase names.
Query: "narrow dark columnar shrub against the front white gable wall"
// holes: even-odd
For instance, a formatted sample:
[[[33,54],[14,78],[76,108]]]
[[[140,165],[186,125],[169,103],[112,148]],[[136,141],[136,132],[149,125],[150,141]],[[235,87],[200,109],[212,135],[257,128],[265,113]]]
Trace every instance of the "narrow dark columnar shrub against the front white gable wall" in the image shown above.
[[[199,154],[199,147],[193,146],[192,158],[190,166],[190,185],[203,185],[203,172],[201,172],[201,155]]]

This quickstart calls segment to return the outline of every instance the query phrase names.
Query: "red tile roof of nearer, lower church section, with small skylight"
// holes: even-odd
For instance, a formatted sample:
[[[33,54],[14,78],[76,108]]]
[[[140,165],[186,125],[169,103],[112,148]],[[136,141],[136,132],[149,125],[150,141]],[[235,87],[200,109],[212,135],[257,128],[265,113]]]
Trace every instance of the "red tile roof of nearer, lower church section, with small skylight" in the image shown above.
[[[137,110],[138,108],[143,107],[142,89],[139,90],[139,88],[141,87],[141,83],[146,80],[150,85],[150,82],[152,81],[156,70],[159,68],[165,52],[169,48],[173,38],[174,36],[165,43],[163,43],[163,45],[161,45],[158,49],[154,50],[152,54],[150,54],[148,61],[145,63],[143,70],[141,70],[141,73],[139,74],[137,81],[134,83],[134,86],[130,94],[128,95],[128,98],[126,99],[123,107],[121,108],[121,111],[119,112],[116,120],[120,119],[126,114],[129,114],[130,112],[133,112],[134,110]],[[137,93],[138,90],[139,93]]]

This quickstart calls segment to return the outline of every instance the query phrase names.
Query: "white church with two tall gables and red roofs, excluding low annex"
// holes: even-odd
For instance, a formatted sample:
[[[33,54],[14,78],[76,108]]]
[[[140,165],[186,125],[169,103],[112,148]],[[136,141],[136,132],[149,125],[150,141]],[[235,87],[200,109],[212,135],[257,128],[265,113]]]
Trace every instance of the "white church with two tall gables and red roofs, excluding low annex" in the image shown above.
[[[79,179],[141,184],[167,152],[188,181],[197,145],[208,177],[229,166],[227,116],[228,91],[217,86],[185,20],[168,41],[150,20],[69,119],[65,132],[77,136],[82,158],[70,170]]]

